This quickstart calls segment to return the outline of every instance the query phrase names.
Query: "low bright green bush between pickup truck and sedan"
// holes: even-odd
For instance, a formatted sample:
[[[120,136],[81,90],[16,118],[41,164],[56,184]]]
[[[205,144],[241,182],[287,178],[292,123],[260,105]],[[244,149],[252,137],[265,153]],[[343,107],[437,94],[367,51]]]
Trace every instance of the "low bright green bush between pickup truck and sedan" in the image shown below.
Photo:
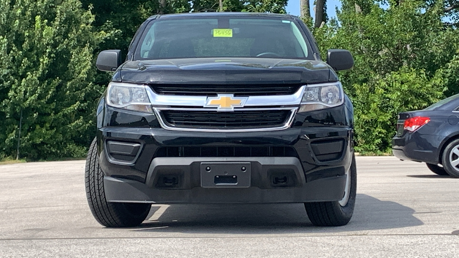
[[[397,114],[419,110],[442,98],[424,71],[402,67],[367,83],[353,84],[353,104],[359,151],[389,152]]]

